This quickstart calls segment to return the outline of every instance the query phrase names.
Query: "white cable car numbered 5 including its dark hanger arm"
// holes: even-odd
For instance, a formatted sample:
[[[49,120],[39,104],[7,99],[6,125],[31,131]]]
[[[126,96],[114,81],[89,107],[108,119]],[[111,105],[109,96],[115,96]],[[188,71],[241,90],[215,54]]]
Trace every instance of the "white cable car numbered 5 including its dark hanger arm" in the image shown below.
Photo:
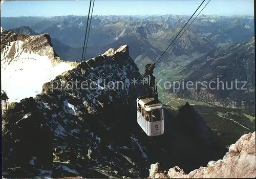
[[[150,92],[137,98],[137,122],[147,136],[159,136],[164,133],[163,105],[158,99],[153,69],[155,63],[146,64],[143,78],[147,77]]]

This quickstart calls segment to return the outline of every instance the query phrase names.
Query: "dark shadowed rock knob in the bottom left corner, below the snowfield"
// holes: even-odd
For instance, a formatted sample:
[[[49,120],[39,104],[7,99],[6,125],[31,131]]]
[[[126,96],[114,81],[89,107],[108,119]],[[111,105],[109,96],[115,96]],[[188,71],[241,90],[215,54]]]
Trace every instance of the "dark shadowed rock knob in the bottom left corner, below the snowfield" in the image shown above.
[[[3,115],[3,166],[12,166],[10,172],[17,172],[22,178],[33,177],[34,167],[50,170],[53,132],[37,103],[31,97],[11,107],[9,113]]]

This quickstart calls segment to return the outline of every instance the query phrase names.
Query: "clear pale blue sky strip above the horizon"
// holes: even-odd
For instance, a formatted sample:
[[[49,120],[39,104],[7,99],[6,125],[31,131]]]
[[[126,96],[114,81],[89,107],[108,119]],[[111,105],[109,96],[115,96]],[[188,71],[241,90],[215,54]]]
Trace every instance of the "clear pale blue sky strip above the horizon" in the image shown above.
[[[208,0],[207,0],[208,1]],[[207,1],[205,3],[207,3]],[[95,0],[94,15],[191,15],[200,0],[136,1]],[[87,15],[90,1],[5,1],[1,16],[60,16]],[[254,15],[252,0],[211,0],[202,11],[204,15]]]

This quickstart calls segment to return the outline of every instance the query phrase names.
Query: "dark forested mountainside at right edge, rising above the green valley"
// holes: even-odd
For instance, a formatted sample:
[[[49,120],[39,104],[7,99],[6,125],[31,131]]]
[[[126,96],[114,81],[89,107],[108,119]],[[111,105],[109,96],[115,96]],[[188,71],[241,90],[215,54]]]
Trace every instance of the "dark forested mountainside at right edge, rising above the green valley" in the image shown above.
[[[255,39],[212,50],[178,74],[184,84],[171,93],[232,108],[255,108]],[[193,84],[192,87],[190,84]],[[189,85],[188,85],[189,84]]]

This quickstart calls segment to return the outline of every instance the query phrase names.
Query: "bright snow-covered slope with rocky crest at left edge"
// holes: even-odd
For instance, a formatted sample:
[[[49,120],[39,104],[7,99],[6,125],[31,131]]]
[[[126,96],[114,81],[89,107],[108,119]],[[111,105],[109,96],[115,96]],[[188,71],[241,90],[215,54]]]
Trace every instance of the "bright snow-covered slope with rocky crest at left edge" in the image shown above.
[[[1,29],[1,86],[9,102],[39,94],[42,84],[74,65],[59,59],[49,34],[31,36]]]

